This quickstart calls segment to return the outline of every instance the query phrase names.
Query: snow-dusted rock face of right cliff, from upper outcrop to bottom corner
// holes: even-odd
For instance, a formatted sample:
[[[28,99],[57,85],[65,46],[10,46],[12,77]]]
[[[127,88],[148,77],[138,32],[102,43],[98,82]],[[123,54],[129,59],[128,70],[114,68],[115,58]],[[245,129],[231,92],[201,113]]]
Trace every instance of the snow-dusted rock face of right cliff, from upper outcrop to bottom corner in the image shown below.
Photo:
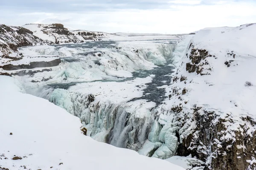
[[[255,170],[256,120],[253,117],[247,114],[234,116],[232,112],[223,113],[207,104],[191,103],[192,108],[186,105],[191,102],[187,101],[187,95],[191,91],[195,77],[201,79],[199,77],[202,75],[210,76],[214,65],[216,67],[215,62],[220,62],[223,68],[230,69],[232,65],[230,63],[235,62],[234,58],[237,55],[232,51],[223,56],[227,58],[227,62],[224,63],[227,67],[225,67],[222,62],[224,59],[219,61],[215,55],[211,55],[205,49],[196,48],[193,43],[187,47],[187,51],[184,57],[186,59],[177,69],[173,78],[174,84],[170,88],[169,99],[176,104],[173,104],[170,110],[165,110],[164,106],[161,108],[163,115],[172,115],[172,123],[177,125],[176,137],[180,144],[176,154],[178,156],[191,154],[197,157],[206,163],[205,170]],[[183,63],[186,65],[183,66]],[[181,72],[181,68],[189,74]],[[196,82],[199,83],[203,82]],[[208,82],[207,84],[206,87],[214,85]],[[236,103],[234,106],[238,107]]]

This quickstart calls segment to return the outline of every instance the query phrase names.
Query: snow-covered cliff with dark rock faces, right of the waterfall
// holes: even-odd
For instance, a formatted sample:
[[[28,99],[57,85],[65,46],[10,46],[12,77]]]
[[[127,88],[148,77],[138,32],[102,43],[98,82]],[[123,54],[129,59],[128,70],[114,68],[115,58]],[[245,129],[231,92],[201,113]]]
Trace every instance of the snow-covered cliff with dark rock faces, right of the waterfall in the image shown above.
[[[255,30],[256,24],[205,28],[178,43],[158,121],[177,132],[177,155],[192,154],[214,170],[255,170]],[[171,151],[160,147],[153,157],[163,152]]]

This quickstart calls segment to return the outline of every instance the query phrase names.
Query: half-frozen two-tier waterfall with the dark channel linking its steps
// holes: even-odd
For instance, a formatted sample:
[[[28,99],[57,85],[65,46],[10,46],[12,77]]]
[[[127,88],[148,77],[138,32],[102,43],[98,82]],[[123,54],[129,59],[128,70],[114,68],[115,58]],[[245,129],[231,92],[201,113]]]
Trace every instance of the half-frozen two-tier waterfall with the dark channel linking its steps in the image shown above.
[[[101,57],[109,56],[109,62],[102,62],[105,65],[96,65],[93,67],[95,67],[95,70],[96,68],[102,69],[103,67],[109,69],[118,67],[119,69],[130,70],[130,67],[133,66],[134,70],[144,70],[145,72],[149,70],[148,68],[151,68],[151,65],[153,65],[152,63],[149,64],[150,62],[148,61],[158,65],[165,65],[166,60],[172,59],[172,52],[174,51],[175,46],[176,44],[172,43],[156,43],[156,48],[153,50],[142,48],[138,49],[138,52],[136,52],[136,50],[134,50],[134,52],[116,51],[115,49],[112,51],[105,51],[105,54],[101,54]],[[54,49],[55,48],[53,47],[47,50],[40,49],[41,51],[39,52],[40,54],[57,54]],[[66,48],[64,49],[67,50]],[[62,51],[64,51],[64,49]],[[61,51],[58,51],[58,54],[60,52]],[[89,59],[88,57],[90,56],[87,56],[87,59]],[[96,57],[100,58],[99,56]],[[133,62],[131,63],[131,61]],[[81,63],[78,61],[74,63],[76,64],[74,65],[74,68],[78,68],[79,65],[81,65],[82,68],[86,68],[83,65],[85,62]],[[93,62],[88,62],[87,64],[93,65]],[[68,68],[70,68],[70,65],[68,65]],[[85,70],[88,70],[88,68]],[[88,130],[87,134],[93,139],[96,139],[99,142],[112,144],[116,147],[129,148],[138,151],[143,147],[144,143],[148,141],[149,133],[151,133],[151,138],[156,139],[155,141],[158,142],[158,131],[161,130],[160,125],[157,124],[155,125],[157,130],[153,129],[156,132],[151,132],[152,128],[154,128],[153,125],[155,124],[156,119],[158,119],[157,105],[161,104],[165,94],[165,90],[163,89],[163,91],[161,91],[161,89],[157,89],[157,86],[165,85],[164,82],[169,83],[169,81],[163,81],[160,76],[171,73],[171,68],[165,65],[155,68],[154,70],[158,70],[158,72],[157,77],[154,79],[154,85],[152,85],[151,88],[148,88],[148,90],[151,91],[147,92],[148,95],[144,94],[143,98],[136,98],[130,102],[110,102],[101,99],[91,102],[88,98],[90,91],[72,91],[68,88],[61,88],[61,84],[59,87],[44,85],[38,89],[27,90],[27,92],[47,99],[55,105],[64,108],[70,114],[79,117],[83,124],[86,125]],[[149,70],[149,73],[156,75],[154,70]],[[75,71],[77,72],[77,69]],[[81,73],[83,72],[84,70],[81,71]],[[66,77],[68,77],[68,75]],[[74,79],[74,77],[71,78]],[[171,77],[167,78],[171,79]],[[160,95],[153,93],[153,91]],[[146,91],[144,90],[144,92]],[[152,93],[152,95],[149,95],[150,93]],[[153,98],[157,98],[157,102],[152,102],[154,101]],[[151,142],[152,141],[153,140],[151,140]],[[160,142],[156,144],[158,147],[161,145],[159,143]]]

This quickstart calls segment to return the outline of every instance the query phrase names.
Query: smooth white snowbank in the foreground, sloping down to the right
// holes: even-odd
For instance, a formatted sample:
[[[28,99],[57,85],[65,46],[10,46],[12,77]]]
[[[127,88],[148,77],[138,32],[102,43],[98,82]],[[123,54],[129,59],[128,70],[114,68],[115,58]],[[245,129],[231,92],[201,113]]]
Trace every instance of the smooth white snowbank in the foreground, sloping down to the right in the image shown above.
[[[24,94],[12,77],[0,76],[0,82],[2,170],[184,170],[96,142],[80,130],[79,118],[45,99]]]

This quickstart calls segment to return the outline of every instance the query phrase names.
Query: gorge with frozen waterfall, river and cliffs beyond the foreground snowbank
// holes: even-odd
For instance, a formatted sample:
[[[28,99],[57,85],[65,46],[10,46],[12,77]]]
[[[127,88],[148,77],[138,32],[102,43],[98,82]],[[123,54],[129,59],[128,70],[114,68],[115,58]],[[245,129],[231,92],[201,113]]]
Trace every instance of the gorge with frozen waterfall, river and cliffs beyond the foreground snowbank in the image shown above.
[[[0,27],[0,74],[94,140],[190,170],[255,170],[255,24],[189,35]]]

